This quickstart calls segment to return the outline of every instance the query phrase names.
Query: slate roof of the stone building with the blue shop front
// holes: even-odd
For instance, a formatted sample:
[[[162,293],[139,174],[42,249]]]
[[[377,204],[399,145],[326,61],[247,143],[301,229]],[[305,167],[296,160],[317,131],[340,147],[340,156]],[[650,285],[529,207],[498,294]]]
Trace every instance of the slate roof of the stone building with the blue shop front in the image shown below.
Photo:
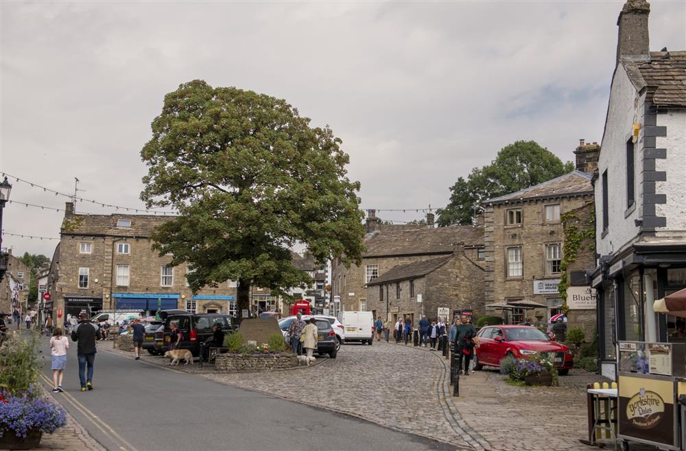
[[[80,215],[65,218],[62,222],[62,235],[126,236],[147,238],[159,224],[164,224],[174,216],[163,215]],[[118,220],[131,221],[131,227],[117,227]],[[65,227],[66,226],[66,227]]]

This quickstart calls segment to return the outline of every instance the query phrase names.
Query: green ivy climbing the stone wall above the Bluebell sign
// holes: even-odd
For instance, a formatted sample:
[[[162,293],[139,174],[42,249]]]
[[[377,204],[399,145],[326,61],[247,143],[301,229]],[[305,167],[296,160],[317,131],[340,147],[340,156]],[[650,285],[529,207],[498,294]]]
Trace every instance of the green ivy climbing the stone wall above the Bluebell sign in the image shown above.
[[[576,262],[576,257],[579,251],[594,251],[595,252],[595,208],[591,208],[587,218],[581,218],[579,211],[584,211],[583,208],[567,211],[560,216],[560,221],[563,223],[564,239],[562,245],[562,262],[560,262],[560,284],[558,284],[558,293],[560,297],[565,299],[562,310],[567,314],[569,306],[567,305],[567,288],[569,288],[569,279],[567,278],[567,267]]]

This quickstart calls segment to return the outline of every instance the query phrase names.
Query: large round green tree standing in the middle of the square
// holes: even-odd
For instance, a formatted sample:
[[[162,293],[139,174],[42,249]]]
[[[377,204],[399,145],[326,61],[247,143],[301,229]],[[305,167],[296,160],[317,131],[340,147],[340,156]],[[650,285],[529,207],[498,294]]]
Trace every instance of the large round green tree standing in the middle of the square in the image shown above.
[[[285,100],[182,84],[165,96],[141,150],[141,199],[179,213],[155,229],[154,249],[193,268],[193,291],[238,281],[239,315],[251,286],[285,294],[311,283],[291,263],[296,243],[317,262],[361,263],[359,183],[347,176],[341,143]]]

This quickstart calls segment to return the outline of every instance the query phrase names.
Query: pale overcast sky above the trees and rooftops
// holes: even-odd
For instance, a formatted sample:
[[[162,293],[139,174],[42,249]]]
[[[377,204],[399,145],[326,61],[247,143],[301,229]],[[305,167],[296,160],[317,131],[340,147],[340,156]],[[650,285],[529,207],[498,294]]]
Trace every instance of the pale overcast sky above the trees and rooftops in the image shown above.
[[[79,196],[141,208],[150,122],[202,78],[329,124],[362,208],[442,207],[512,141],[571,160],[579,138],[602,139],[623,3],[2,1],[0,170],[67,193],[78,177]],[[686,3],[650,3],[651,49],[686,49]],[[12,200],[64,208],[10,182]],[[62,217],[9,204],[3,228],[56,238]],[[3,237],[15,254],[56,243]]]

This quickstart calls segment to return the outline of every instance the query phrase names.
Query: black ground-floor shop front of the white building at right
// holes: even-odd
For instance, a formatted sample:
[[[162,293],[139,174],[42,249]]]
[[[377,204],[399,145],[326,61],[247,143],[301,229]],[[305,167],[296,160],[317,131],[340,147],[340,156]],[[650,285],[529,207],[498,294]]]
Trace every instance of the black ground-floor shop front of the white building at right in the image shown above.
[[[602,258],[593,274],[602,375],[617,380],[617,343],[686,343],[683,319],[656,312],[654,301],[686,288],[686,247],[634,244]]]

